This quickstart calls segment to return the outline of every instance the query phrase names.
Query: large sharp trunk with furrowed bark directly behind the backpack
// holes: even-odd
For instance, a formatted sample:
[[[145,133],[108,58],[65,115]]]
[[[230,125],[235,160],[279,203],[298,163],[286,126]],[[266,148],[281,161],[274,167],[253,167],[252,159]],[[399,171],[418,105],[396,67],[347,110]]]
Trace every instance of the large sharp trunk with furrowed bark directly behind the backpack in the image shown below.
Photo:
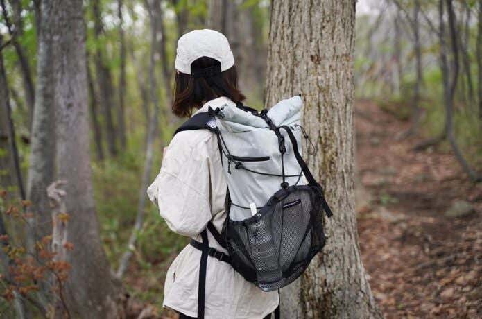
[[[283,318],[381,318],[360,257],[354,211],[354,0],[273,1],[266,105],[302,94],[322,150],[311,160],[334,216],[307,271],[282,289]]]

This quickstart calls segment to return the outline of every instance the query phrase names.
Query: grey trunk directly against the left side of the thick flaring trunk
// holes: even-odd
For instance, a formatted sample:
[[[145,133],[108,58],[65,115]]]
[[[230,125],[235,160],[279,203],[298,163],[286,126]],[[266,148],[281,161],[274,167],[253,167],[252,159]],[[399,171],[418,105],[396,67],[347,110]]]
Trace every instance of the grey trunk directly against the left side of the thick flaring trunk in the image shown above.
[[[32,202],[29,211],[34,218],[29,220],[32,232],[28,232],[28,247],[35,240],[51,234],[52,222],[47,187],[53,182],[55,154],[55,121],[53,112],[53,74],[51,67],[51,1],[42,1],[40,16],[37,16],[37,85],[31,132],[31,150],[28,167],[27,198]]]

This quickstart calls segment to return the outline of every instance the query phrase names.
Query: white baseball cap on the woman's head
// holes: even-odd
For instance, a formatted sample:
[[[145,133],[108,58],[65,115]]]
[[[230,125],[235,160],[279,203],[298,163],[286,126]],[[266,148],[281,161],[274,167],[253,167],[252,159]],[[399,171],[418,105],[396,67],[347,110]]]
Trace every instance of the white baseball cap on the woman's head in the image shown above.
[[[230,43],[223,33],[214,30],[193,30],[182,35],[176,53],[174,67],[184,74],[191,74],[191,63],[203,56],[218,60],[221,71],[234,65]]]

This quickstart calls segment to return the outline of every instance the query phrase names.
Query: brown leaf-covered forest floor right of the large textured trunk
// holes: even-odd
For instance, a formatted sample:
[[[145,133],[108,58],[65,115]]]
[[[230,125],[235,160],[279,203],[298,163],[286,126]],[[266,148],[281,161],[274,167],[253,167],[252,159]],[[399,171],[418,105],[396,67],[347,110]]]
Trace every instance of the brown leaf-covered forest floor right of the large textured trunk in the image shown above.
[[[356,103],[355,124],[359,242],[381,311],[482,318],[482,185],[442,147],[397,141],[408,123],[373,102]]]

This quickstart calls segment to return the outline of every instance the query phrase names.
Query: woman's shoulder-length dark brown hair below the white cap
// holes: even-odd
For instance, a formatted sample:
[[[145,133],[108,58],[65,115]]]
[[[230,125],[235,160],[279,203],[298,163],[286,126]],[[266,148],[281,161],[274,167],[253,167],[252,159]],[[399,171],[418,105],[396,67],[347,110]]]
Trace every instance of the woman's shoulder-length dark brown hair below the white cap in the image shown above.
[[[191,67],[205,69],[221,66],[219,61],[202,57],[192,62]],[[172,110],[178,117],[190,117],[192,110],[214,98],[226,96],[234,102],[241,102],[246,97],[238,88],[238,74],[233,65],[221,74],[213,76],[193,76],[191,74],[175,74],[175,90]]]

